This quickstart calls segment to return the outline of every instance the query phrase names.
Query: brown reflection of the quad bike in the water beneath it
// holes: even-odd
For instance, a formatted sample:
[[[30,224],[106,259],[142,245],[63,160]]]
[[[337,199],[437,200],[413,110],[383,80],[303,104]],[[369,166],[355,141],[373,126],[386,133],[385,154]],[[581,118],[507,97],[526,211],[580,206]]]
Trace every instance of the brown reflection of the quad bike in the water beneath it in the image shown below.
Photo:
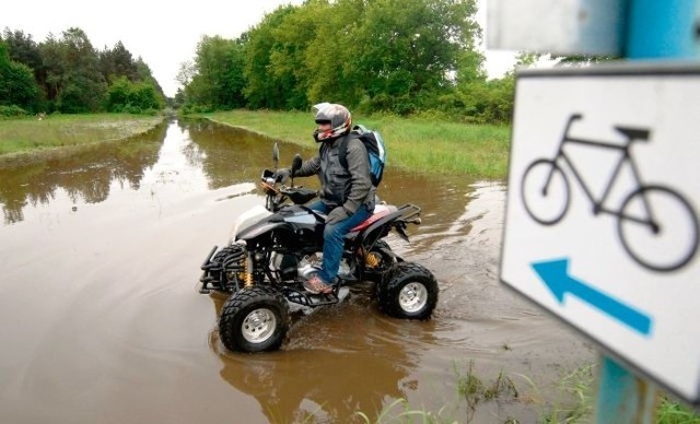
[[[212,332],[221,377],[253,396],[275,423],[359,421],[357,412],[374,416],[427,390],[417,369],[435,345],[435,321],[389,319],[373,308],[370,293],[357,287],[339,306],[295,315],[280,352],[225,352]],[[219,315],[223,298],[212,298]]]

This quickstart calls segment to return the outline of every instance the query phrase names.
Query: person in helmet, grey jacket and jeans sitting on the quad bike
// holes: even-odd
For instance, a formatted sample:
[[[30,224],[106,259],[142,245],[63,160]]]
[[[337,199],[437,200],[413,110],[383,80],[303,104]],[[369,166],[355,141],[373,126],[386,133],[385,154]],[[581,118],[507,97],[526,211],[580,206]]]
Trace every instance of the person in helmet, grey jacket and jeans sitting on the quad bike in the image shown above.
[[[318,175],[320,200],[310,209],[327,215],[324,229],[322,269],[304,282],[304,288],[313,294],[326,294],[336,283],[343,236],[351,228],[372,215],[376,188],[370,177],[368,152],[358,138],[349,136],[352,117],[348,108],[339,104],[320,103],[313,107],[318,126],[314,140],[322,143],[318,155],[303,162],[302,167],[291,175],[289,168],[278,170],[283,178]],[[340,162],[338,149],[347,141],[347,167]]]

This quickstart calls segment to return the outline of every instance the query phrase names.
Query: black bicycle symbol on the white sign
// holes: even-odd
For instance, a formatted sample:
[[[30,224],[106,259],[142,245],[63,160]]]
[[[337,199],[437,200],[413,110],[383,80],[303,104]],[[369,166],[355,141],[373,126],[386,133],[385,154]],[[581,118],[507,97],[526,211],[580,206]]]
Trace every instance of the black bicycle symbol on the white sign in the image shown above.
[[[564,133],[553,158],[538,158],[525,169],[521,180],[521,196],[529,216],[541,225],[555,225],[569,210],[570,184],[564,169],[581,186],[592,203],[595,216],[607,213],[617,219],[617,232],[625,251],[639,264],[654,271],[668,272],[685,267],[698,250],[698,219],[690,203],[677,191],[642,182],[640,168],[632,156],[632,143],[648,141],[645,128],[615,126],[623,136],[622,144],[585,140],[570,136],[572,125],[583,119],[581,114],[569,117]],[[567,144],[580,144],[619,151],[619,161],[599,198],[586,185],[580,168],[564,151]],[[565,164],[565,168],[563,166]],[[581,165],[580,165],[581,166]],[[632,189],[619,208],[606,205],[612,187],[622,169],[629,167]]]

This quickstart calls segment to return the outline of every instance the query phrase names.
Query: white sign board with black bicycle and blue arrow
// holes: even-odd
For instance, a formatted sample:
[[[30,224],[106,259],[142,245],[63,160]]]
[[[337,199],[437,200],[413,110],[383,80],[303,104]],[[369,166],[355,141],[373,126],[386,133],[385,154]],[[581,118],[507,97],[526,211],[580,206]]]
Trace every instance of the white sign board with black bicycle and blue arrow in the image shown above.
[[[501,280],[700,399],[700,67],[524,71]]]

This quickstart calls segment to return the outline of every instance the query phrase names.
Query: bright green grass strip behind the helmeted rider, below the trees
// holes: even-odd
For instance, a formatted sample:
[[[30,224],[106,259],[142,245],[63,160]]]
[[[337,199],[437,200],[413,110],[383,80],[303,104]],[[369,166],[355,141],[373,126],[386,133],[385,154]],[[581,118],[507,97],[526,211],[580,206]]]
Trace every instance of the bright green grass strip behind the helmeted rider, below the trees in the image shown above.
[[[231,110],[205,114],[213,121],[314,146],[311,113]],[[354,116],[355,123],[378,130],[387,145],[388,163],[427,174],[505,179],[510,127],[467,125],[425,118]]]

